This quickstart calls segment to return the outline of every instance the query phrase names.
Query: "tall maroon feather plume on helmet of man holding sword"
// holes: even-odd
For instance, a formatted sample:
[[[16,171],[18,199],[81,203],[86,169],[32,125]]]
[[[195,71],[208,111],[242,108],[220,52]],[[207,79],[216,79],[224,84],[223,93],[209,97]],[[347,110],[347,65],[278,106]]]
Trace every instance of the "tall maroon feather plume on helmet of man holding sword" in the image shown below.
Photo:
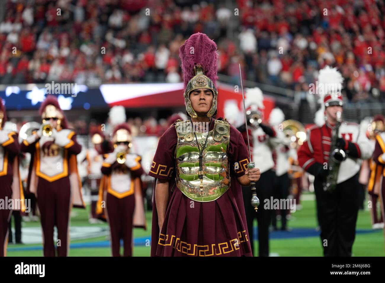
[[[192,49],[191,47],[194,47]],[[194,54],[191,54],[194,50]],[[202,65],[204,74],[214,82],[218,79],[218,53],[217,45],[204,33],[194,33],[187,39],[184,44],[179,47],[179,58],[182,61],[182,72],[184,80],[184,88],[194,77],[194,66]]]

